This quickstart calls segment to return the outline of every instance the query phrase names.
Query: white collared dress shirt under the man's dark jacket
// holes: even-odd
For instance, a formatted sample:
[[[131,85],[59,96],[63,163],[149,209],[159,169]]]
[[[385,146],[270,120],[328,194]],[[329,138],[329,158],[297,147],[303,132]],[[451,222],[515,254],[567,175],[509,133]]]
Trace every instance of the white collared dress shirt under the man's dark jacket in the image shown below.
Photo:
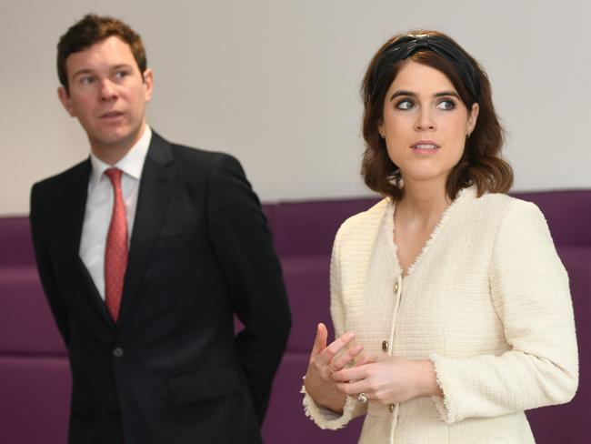
[[[145,126],[144,134],[125,156],[115,165],[105,164],[94,154],[90,154],[92,172],[88,181],[88,197],[86,198],[85,220],[82,226],[80,249],[78,254],[84,262],[90,276],[95,282],[101,298],[105,299],[105,247],[106,236],[113,212],[114,192],[111,181],[105,176],[105,170],[115,167],[123,171],[121,188],[127,218],[127,242],[131,239],[135,220],[135,207],[139,182],[142,176],[145,156],[147,154],[152,130]]]

